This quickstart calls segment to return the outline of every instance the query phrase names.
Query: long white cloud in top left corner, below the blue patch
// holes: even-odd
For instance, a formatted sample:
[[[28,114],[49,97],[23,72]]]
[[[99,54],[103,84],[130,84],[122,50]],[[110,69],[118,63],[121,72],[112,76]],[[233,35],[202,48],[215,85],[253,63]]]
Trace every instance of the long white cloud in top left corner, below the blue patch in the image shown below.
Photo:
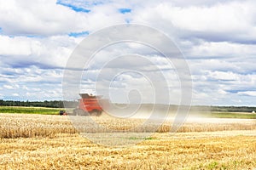
[[[0,26],[7,35],[54,36],[71,32],[96,31],[124,23],[125,17],[111,4],[76,12],[55,0],[1,0]]]

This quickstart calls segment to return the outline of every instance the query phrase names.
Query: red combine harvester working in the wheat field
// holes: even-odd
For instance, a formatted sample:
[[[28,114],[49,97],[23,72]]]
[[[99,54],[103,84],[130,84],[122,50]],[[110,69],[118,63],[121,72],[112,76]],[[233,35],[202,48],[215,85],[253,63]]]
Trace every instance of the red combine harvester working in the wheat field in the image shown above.
[[[101,116],[102,106],[99,101],[102,96],[95,96],[91,94],[79,94],[81,99],[79,99],[79,106],[77,109],[73,110],[73,115],[75,116]]]

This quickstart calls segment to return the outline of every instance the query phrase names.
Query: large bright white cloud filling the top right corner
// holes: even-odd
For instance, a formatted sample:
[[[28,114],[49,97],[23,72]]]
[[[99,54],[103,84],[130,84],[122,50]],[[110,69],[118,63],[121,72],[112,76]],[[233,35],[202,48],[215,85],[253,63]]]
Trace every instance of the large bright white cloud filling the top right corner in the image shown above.
[[[254,1],[231,1],[180,7],[164,2],[138,8],[133,20],[166,31],[171,37],[250,42],[256,37],[255,5]]]

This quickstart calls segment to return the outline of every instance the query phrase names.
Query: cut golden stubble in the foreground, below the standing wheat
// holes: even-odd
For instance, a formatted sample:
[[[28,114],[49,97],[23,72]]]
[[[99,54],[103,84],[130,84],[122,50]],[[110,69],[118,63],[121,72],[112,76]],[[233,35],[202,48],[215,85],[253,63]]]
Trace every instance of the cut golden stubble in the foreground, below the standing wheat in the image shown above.
[[[130,139],[136,140],[136,139]],[[0,169],[253,169],[256,131],[155,133],[129,148],[78,134],[0,139]]]

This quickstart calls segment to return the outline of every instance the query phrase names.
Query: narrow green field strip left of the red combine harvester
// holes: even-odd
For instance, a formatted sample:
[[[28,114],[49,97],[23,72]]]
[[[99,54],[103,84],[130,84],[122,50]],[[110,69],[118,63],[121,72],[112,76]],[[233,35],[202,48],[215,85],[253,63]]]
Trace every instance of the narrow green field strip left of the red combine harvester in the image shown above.
[[[58,115],[60,110],[61,109],[46,108],[46,107],[0,106],[0,113]]]

